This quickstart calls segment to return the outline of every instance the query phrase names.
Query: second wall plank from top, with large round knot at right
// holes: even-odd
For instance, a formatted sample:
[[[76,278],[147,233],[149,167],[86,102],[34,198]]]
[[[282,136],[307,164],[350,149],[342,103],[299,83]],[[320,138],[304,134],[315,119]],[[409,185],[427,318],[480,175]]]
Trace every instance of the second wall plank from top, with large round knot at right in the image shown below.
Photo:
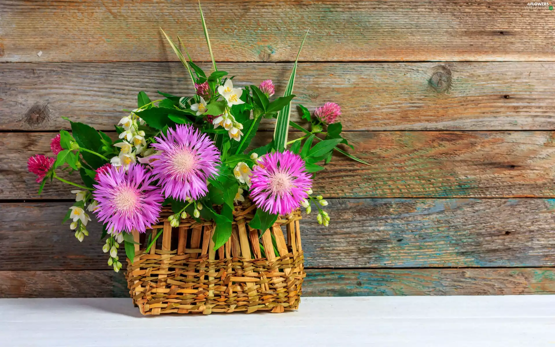
[[[240,86],[271,78],[277,96],[291,64],[219,68]],[[113,130],[139,90],[194,92],[179,63],[0,64],[0,81],[0,130],[67,128],[63,116]],[[555,63],[304,63],[294,93],[310,110],[339,103],[346,130],[542,130],[555,129],[553,81]],[[296,107],[292,119],[300,121]]]

